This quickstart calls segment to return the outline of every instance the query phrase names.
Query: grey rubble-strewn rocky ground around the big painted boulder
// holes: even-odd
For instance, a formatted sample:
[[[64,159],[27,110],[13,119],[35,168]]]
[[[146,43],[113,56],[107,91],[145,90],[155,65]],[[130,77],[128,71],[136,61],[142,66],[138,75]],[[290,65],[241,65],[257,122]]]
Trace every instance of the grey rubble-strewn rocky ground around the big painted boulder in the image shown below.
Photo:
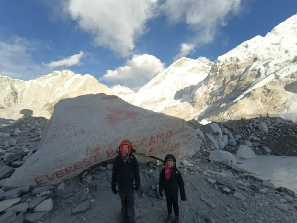
[[[46,123],[41,117],[27,117],[1,126],[0,179],[9,177],[37,150]],[[235,154],[241,145],[255,154],[296,156],[296,124],[270,117],[204,126],[188,123],[197,129],[203,143],[188,162],[178,164],[187,194],[187,201],[180,201],[181,222],[297,222],[294,191],[275,188],[268,180],[209,160],[218,151],[216,147]],[[111,167],[101,163],[54,186],[0,188],[0,222],[117,222],[120,199],[110,189]],[[164,222],[166,202],[156,196],[161,168],[159,161],[140,165],[137,222]]]

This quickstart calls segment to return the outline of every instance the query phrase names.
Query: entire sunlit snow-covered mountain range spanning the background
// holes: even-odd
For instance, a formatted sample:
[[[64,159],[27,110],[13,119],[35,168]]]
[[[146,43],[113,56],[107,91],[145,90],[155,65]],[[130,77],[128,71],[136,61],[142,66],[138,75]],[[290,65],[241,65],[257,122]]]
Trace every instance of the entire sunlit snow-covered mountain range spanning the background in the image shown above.
[[[0,118],[18,118],[21,109],[48,118],[58,100],[99,92],[184,119],[229,120],[268,113],[297,121],[297,14],[215,62],[181,58],[138,92],[121,85],[108,88],[91,75],[69,70],[31,81],[0,76]]]

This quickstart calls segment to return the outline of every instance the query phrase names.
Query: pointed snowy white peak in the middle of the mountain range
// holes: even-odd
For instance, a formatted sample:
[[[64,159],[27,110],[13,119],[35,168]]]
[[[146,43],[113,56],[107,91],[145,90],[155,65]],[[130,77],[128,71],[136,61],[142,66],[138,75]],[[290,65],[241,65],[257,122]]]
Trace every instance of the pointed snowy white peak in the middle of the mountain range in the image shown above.
[[[183,108],[189,109],[192,90],[206,78],[210,68],[203,62],[183,57],[155,76],[137,93],[119,97],[145,109],[184,118],[180,113],[183,113]]]

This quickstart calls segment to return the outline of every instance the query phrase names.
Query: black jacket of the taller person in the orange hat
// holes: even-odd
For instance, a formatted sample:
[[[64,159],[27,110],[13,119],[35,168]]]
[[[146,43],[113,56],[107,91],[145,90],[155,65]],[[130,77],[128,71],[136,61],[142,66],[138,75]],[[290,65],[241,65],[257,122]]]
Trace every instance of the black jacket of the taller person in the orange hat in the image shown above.
[[[135,184],[140,183],[138,161],[132,154],[133,152],[135,152],[134,149],[129,154],[129,161],[126,163],[120,152],[117,152],[118,155],[113,161],[111,185],[118,184],[119,188],[133,188],[134,180]]]

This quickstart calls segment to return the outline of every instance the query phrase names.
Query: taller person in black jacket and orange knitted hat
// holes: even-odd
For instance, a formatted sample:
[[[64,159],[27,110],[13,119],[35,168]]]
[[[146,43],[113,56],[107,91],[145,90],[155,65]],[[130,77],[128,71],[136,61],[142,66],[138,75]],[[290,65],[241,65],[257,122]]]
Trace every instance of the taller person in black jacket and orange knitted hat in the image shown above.
[[[131,142],[123,140],[112,168],[111,189],[114,194],[117,194],[116,184],[118,184],[122,204],[121,222],[123,223],[135,223],[134,189],[138,190],[140,184],[138,161],[132,152],[135,150],[132,149]]]

